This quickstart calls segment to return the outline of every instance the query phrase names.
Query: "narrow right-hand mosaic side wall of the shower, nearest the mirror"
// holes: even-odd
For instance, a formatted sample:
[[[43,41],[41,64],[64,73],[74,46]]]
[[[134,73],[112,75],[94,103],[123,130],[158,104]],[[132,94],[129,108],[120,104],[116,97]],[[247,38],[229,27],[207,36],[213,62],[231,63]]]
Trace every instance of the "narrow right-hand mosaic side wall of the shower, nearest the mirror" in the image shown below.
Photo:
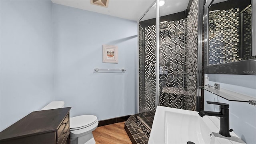
[[[193,0],[186,18],[184,109],[196,110],[198,0]]]

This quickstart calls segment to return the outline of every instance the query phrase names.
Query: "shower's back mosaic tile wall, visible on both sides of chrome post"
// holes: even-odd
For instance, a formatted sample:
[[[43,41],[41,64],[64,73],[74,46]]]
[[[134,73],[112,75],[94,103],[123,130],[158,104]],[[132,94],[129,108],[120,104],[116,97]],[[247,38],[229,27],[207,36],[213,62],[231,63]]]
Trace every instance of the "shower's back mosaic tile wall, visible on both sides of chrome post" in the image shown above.
[[[156,62],[156,35],[155,25],[145,28],[145,107],[155,106],[155,76],[148,73],[149,64]],[[185,20],[175,20],[160,24],[160,63],[166,67],[168,74],[160,74],[159,80],[159,104],[172,108],[183,106],[184,86],[184,28]],[[152,66],[154,69],[154,66]],[[162,92],[164,87],[179,88],[180,92]],[[153,99],[152,99],[153,96]]]

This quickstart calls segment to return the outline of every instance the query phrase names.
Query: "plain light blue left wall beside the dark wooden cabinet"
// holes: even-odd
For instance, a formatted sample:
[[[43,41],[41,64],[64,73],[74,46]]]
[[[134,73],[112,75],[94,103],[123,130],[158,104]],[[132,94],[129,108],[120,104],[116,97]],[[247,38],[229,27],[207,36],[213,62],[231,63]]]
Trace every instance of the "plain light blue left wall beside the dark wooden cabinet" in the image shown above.
[[[0,0],[0,131],[54,100],[52,2]]]

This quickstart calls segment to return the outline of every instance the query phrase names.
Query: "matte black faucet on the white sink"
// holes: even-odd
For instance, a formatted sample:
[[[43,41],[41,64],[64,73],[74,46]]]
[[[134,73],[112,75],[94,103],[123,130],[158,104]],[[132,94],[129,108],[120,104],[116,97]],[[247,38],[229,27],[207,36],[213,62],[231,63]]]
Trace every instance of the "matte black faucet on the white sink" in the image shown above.
[[[220,112],[211,112],[201,110],[198,114],[203,117],[207,116],[219,116],[220,117],[220,131],[219,134],[226,137],[231,137],[229,132],[232,132],[232,129],[229,130],[229,104],[221,102],[209,102],[207,104],[218,104],[220,105]]]

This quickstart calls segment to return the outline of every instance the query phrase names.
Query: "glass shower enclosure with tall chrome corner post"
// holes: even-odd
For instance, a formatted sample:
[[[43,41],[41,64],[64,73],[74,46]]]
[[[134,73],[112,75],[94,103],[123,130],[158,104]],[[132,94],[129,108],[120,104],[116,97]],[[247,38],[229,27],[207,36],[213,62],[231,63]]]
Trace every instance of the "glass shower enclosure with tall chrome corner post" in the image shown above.
[[[149,130],[156,106],[184,109],[186,94],[186,12],[156,3],[138,22],[138,119]]]

